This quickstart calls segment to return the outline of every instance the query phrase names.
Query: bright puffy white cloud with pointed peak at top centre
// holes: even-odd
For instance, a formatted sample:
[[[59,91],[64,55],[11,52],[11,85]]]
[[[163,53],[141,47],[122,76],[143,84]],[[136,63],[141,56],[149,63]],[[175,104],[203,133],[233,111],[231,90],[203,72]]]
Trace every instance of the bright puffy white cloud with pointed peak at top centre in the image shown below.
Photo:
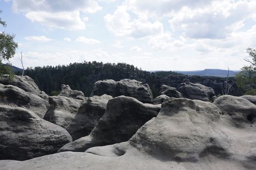
[[[117,36],[143,38],[163,32],[163,24],[144,19],[132,19],[125,6],[118,6],[113,15],[104,17],[107,29]]]

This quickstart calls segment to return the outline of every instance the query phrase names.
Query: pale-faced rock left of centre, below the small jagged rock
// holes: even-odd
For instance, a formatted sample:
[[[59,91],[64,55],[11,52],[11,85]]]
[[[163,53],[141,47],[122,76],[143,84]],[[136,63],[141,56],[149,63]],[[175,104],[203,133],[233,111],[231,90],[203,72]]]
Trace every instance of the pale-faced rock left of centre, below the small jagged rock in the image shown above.
[[[82,100],[65,96],[50,96],[50,108],[43,119],[66,128],[75,119]]]

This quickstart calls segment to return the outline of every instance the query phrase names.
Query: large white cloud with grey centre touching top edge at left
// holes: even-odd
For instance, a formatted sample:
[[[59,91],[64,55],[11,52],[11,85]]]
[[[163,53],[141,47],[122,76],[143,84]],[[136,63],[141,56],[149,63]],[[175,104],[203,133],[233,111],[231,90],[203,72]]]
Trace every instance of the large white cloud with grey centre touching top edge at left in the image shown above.
[[[96,13],[102,7],[95,0],[12,0],[12,8],[34,22],[67,30],[83,30],[88,17],[81,13]]]

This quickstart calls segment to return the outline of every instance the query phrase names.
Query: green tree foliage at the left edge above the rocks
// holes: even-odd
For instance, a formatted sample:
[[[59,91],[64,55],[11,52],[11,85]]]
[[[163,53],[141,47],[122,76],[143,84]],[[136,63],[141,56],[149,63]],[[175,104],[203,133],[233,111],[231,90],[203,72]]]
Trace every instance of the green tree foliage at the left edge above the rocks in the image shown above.
[[[0,11],[1,13],[2,11]],[[0,25],[6,27],[6,23],[0,18]],[[10,74],[10,79],[13,78],[14,74],[9,59],[15,54],[18,44],[14,41],[15,35],[0,32],[0,75]],[[2,61],[8,62],[6,65],[2,64]]]

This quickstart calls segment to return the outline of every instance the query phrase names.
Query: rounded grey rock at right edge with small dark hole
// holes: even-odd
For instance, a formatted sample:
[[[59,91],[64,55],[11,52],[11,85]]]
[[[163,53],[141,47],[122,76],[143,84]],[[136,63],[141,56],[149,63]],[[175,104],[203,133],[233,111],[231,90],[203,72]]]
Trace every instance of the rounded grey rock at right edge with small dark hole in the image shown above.
[[[223,95],[213,103],[225,117],[231,118],[237,127],[256,122],[256,105],[242,97]]]

